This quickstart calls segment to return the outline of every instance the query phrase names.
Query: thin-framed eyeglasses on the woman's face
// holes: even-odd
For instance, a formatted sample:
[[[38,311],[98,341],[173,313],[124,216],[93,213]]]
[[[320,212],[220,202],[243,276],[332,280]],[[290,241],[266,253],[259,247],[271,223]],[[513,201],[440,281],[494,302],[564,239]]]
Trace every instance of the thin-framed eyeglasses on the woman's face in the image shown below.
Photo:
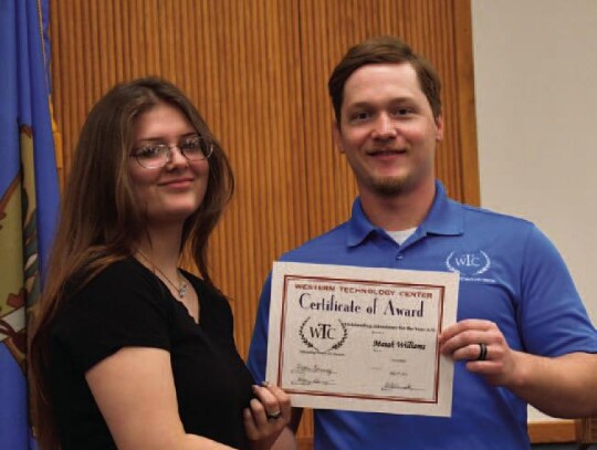
[[[201,137],[187,137],[177,144],[150,144],[137,148],[130,154],[132,158],[146,169],[158,169],[166,166],[172,158],[172,148],[178,148],[180,154],[189,161],[200,161],[207,159],[213,153],[213,144]]]

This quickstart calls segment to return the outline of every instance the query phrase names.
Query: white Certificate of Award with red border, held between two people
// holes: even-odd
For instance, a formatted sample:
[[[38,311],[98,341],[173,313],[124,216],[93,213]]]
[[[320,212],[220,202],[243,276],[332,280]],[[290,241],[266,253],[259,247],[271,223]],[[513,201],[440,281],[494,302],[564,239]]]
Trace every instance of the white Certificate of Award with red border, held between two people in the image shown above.
[[[266,379],[292,405],[450,416],[458,273],[276,262]]]

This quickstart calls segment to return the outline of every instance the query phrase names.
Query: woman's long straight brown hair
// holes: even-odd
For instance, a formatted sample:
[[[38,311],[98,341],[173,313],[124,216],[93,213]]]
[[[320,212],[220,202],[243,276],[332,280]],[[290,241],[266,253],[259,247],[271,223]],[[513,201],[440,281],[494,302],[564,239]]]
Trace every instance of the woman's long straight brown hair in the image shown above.
[[[169,82],[145,77],[118,84],[90,112],[76,146],[64,191],[60,223],[45,273],[45,286],[34,306],[29,352],[33,423],[43,450],[59,450],[46,374],[52,322],[72,295],[111,263],[134,252],[145,232],[143,206],[134,199],[127,171],[135,119],[158,103],[178,107],[197,132],[213,143],[208,187],[199,209],[182,228],[187,250],[203,280],[212,284],[207,263],[210,233],[234,190],[230,164],[192,103]]]

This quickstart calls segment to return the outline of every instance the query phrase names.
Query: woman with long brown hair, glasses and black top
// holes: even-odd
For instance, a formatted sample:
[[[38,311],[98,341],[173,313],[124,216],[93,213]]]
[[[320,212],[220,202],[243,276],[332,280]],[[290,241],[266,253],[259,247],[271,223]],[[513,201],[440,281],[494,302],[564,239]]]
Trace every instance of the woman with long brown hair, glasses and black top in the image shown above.
[[[189,100],[121,84],[81,133],[31,348],[42,449],[268,449],[289,397],[254,386],[207,240],[233,190]],[[177,268],[188,250],[202,279]]]

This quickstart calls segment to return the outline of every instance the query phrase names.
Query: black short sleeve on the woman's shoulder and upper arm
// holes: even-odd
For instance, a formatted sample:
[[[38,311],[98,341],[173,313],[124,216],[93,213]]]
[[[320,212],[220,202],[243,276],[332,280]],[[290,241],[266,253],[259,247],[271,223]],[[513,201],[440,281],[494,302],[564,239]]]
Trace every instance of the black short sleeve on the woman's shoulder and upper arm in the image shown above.
[[[66,300],[51,345],[83,371],[126,346],[170,349],[171,304],[155,276],[129,259],[105,269]]]

